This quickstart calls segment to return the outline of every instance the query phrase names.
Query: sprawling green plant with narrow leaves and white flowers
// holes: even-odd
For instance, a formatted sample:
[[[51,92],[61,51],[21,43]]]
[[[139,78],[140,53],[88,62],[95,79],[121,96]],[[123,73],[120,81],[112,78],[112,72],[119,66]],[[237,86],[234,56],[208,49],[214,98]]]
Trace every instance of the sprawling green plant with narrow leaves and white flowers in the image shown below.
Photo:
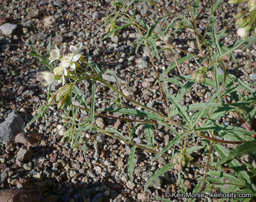
[[[120,34],[125,27],[139,33],[140,36],[135,40],[135,52],[140,50],[141,45],[145,45],[147,48],[148,59],[156,78],[155,86],[158,86],[161,91],[165,111],[158,111],[150,104],[141,104],[127,96],[122,91],[115,72],[100,70],[97,62],[94,63],[89,59],[89,51],[86,52],[86,55],[81,54],[82,43],[79,44],[79,47],[71,45],[70,53],[66,55],[62,54],[60,47],[55,46],[52,49],[53,46],[49,45],[51,47],[50,57],[45,59],[48,63],[41,61],[47,67],[52,67],[43,73],[45,85],[51,85],[54,80],[58,80],[62,83],[62,87],[56,93],[48,94],[48,103],[36,112],[28,126],[42,116],[51,105],[57,105],[59,109],[63,109],[63,127],[59,128],[60,130],[66,129],[63,140],[70,141],[73,148],[80,148],[83,145],[84,153],[86,153],[88,140],[102,134],[115,137],[121,143],[132,146],[127,159],[127,172],[132,185],[134,185],[135,154],[138,150],[142,149],[155,154],[154,158],[150,159],[150,163],[160,157],[168,159],[168,163],[157,169],[145,183],[145,192],[156,178],[164,175],[165,172],[176,169],[180,189],[184,193],[232,192],[236,194],[236,199],[232,200],[232,197],[225,199],[220,196],[220,200],[255,200],[256,168],[248,163],[242,163],[240,158],[246,154],[255,155],[256,153],[256,132],[250,128],[249,124],[255,119],[256,114],[256,85],[252,82],[242,81],[233,74],[228,74],[228,67],[223,59],[229,58],[232,63],[237,64],[233,52],[239,48],[248,48],[250,44],[256,42],[256,37],[249,36],[250,30],[253,30],[255,35],[256,3],[254,0],[229,1],[229,3],[241,2],[248,3],[248,9],[236,15],[237,24],[241,26],[237,30],[237,41],[226,46],[221,39],[223,36],[227,37],[228,34],[225,31],[218,32],[216,30],[216,10],[221,10],[222,0],[177,1],[178,4],[188,5],[188,9],[179,15],[160,6],[157,1],[112,1],[113,13],[105,17],[104,24],[98,28],[99,31],[106,27],[107,32],[102,40]],[[148,4],[152,9],[164,14],[155,19],[153,24],[148,24],[138,11],[140,4]],[[199,32],[198,26],[201,23],[202,15],[207,18],[207,24],[204,31]],[[167,36],[181,31],[193,31],[193,37],[197,44],[195,52],[182,49],[179,45],[172,44],[170,40],[167,40]],[[239,37],[242,39],[240,40]],[[160,48],[156,45],[159,42],[164,44]],[[180,59],[176,59],[174,56],[175,49],[179,51]],[[171,52],[174,62],[160,72],[157,66],[161,65],[161,53],[166,50]],[[36,56],[36,54],[33,55]],[[41,59],[43,60],[42,57]],[[194,71],[189,74],[182,73],[184,72],[182,63],[186,61],[195,67]],[[51,66],[53,63],[54,66]],[[178,74],[170,77],[170,72],[173,69],[176,69]],[[107,82],[103,79],[103,74],[112,75],[116,82]],[[91,100],[86,99],[84,92],[77,87],[77,84],[83,80],[92,82]],[[111,108],[96,107],[95,89],[97,85],[107,86],[115,92],[111,100],[113,103]],[[198,102],[191,93],[195,85],[214,90],[210,91],[208,97]],[[179,92],[171,93],[171,86],[177,86]],[[186,105],[181,104],[184,103],[181,100],[186,96],[190,98],[190,102]],[[79,104],[75,104],[77,101]],[[124,102],[129,103],[131,107],[124,107]],[[88,113],[86,121],[76,118],[76,115],[81,112]],[[122,116],[116,117],[115,112]],[[236,122],[227,125],[222,122],[222,118],[227,117],[230,112],[236,117]],[[181,121],[175,118],[177,114],[181,117]],[[99,127],[95,124],[97,117],[124,121],[127,131],[121,132],[108,126]],[[139,125],[145,126],[144,134],[148,144],[138,144],[133,141],[134,131]],[[170,141],[164,143],[162,148],[155,141],[157,134],[154,131],[158,125],[162,126],[166,134],[170,135]],[[196,157],[199,150],[201,153],[204,152],[203,157],[207,157],[204,164],[198,162],[198,157]],[[198,175],[197,184],[189,190],[184,185],[181,173],[184,168],[191,166],[204,167],[204,173]],[[242,196],[239,195],[241,193],[247,194],[243,195],[245,198],[239,198]],[[156,199],[170,201],[164,196],[156,196]],[[186,197],[183,199],[196,200]]]

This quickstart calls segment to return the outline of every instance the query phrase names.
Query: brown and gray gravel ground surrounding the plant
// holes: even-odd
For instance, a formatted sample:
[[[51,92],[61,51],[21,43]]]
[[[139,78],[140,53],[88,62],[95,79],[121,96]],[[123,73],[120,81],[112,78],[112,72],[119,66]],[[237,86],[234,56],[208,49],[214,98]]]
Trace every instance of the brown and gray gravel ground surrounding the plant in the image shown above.
[[[157,1],[167,10],[183,13],[182,6],[175,6],[172,1]],[[168,3],[170,2],[170,3]],[[204,1],[205,2],[205,1]],[[182,1],[180,4],[183,4]],[[217,15],[217,31],[225,29],[228,36],[222,38],[222,43],[232,45],[237,40],[234,15],[240,8],[222,3]],[[31,53],[29,45],[32,45],[42,53],[47,52],[49,36],[52,35],[54,44],[61,52],[67,52],[69,45],[77,45],[83,42],[83,46],[90,51],[92,61],[97,63],[100,70],[111,69],[116,72],[122,83],[124,93],[141,100],[143,104],[150,103],[153,108],[164,111],[163,99],[158,86],[154,86],[155,77],[150,68],[149,57],[144,47],[135,54],[134,40],[138,34],[127,28],[122,30],[119,36],[109,38],[103,43],[100,39],[104,36],[104,29],[95,34],[95,30],[103,24],[104,13],[111,13],[112,7],[108,1],[8,1],[1,2],[0,7],[0,123],[15,122],[11,131],[3,130],[2,134],[18,134],[26,123],[33,118],[32,113],[47,103],[47,87],[41,75],[42,67],[36,59],[28,56]],[[150,25],[154,19],[161,17],[163,13],[154,7],[141,7],[138,14],[146,19]],[[201,19],[198,25],[199,31],[204,30],[206,20]],[[226,28],[225,28],[226,27]],[[24,33],[24,28],[28,32]],[[0,27],[1,29],[1,27]],[[191,52],[198,52],[194,35],[188,32],[179,32],[169,38],[173,44]],[[161,44],[159,44],[161,45]],[[183,53],[175,52],[180,58]],[[241,80],[256,81],[256,51],[254,44],[248,49],[239,49],[234,52],[241,66],[234,65],[229,59],[225,60],[227,71],[232,72]],[[162,61],[157,62],[158,72],[161,73],[173,63],[170,53],[161,55]],[[250,64],[247,63],[250,61]],[[182,74],[188,75],[194,70],[194,63],[185,62],[181,66]],[[171,76],[177,76],[179,72],[172,70]],[[112,77],[104,79],[111,81]],[[57,89],[59,86],[54,86]],[[90,92],[91,83],[84,82],[80,85],[85,92]],[[53,89],[53,90],[54,90]],[[176,95],[179,88],[171,86],[172,94]],[[211,90],[204,86],[194,85],[191,91],[196,102],[203,102]],[[109,107],[103,102],[112,98],[113,92],[108,88],[98,85],[96,90],[97,108]],[[88,94],[88,103],[91,95]],[[181,100],[181,104],[191,104],[189,97]],[[129,106],[130,103],[125,103]],[[13,112],[13,113],[11,113]],[[17,113],[14,113],[17,112]],[[11,114],[10,114],[11,113]],[[10,114],[10,115],[8,115]],[[90,140],[88,150],[83,154],[83,149],[72,149],[70,143],[62,143],[62,136],[54,135],[61,125],[62,112],[56,107],[50,107],[45,113],[44,119],[37,120],[28,128],[24,135],[6,137],[0,143],[0,190],[12,188],[24,188],[35,191],[45,201],[157,201],[154,196],[163,196],[166,191],[180,191],[177,184],[177,170],[171,171],[159,177],[147,192],[143,192],[145,182],[156,171],[168,163],[161,157],[157,162],[149,164],[153,154],[138,150],[135,155],[135,173],[132,187],[127,175],[127,159],[130,147],[108,136],[98,136]],[[236,123],[233,113],[220,120],[227,124]],[[86,118],[88,114],[80,115]],[[7,118],[8,117],[8,118]],[[177,121],[180,116],[175,117]],[[126,132],[124,122],[116,120],[97,119],[97,125],[115,127],[119,131]],[[19,124],[17,124],[19,123]],[[255,127],[255,125],[251,125]],[[33,131],[31,134],[29,131]],[[63,131],[62,131],[63,132]],[[156,141],[159,149],[163,148],[167,141],[173,138],[168,131],[159,126],[156,130]],[[135,131],[138,143],[144,143],[144,126],[140,125]],[[1,137],[2,138],[2,137]],[[11,141],[8,141],[10,140]],[[191,140],[191,145],[195,142]],[[200,144],[200,141],[199,141]],[[181,149],[176,147],[176,149]],[[205,164],[207,157],[196,153],[198,162]],[[254,159],[245,159],[254,167]],[[193,190],[196,178],[203,175],[204,168],[185,167],[181,172],[185,185]],[[87,200],[85,200],[85,198]],[[83,200],[84,199],[84,200]],[[212,199],[207,199],[213,201]],[[1,201],[1,199],[0,199]],[[178,201],[178,200],[173,200]]]

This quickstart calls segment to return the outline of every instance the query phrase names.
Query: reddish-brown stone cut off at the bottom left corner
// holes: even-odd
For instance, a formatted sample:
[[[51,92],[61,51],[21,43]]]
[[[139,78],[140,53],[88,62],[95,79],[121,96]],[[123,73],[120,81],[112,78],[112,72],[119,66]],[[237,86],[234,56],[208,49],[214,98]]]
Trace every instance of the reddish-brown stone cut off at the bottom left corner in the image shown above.
[[[0,202],[41,202],[42,196],[36,190],[8,189],[0,192]]]

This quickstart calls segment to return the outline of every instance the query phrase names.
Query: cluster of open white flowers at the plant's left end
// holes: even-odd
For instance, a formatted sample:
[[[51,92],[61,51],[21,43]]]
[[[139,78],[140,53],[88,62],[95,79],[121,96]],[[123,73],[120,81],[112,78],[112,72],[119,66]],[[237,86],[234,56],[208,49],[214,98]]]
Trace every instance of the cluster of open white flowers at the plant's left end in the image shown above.
[[[79,48],[75,47],[74,45],[70,46],[70,54],[67,56],[61,56],[60,50],[56,47],[56,49],[53,49],[51,51],[51,57],[49,57],[50,62],[49,65],[58,59],[60,61],[60,65],[53,70],[52,72],[43,72],[45,85],[51,84],[54,79],[56,79],[55,76],[58,76],[58,79],[61,76],[61,79],[58,82],[62,82],[62,85],[65,84],[65,76],[68,75],[69,71],[74,71],[76,68],[75,62],[78,61],[81,57],[80,51],[82,48],[82,43],[79,45]],[[68,69],[69,68],[69,69]]]

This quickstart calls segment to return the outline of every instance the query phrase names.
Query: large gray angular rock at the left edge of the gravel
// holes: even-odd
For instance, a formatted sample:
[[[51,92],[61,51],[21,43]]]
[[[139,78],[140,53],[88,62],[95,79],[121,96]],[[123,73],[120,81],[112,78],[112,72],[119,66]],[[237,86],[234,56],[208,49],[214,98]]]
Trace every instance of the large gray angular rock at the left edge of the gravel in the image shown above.
[[[8,114],[4,122],[0,124],[0,141],[11,141],[15,135],[19,134],[25,122],[19,113],[13,111]]]

